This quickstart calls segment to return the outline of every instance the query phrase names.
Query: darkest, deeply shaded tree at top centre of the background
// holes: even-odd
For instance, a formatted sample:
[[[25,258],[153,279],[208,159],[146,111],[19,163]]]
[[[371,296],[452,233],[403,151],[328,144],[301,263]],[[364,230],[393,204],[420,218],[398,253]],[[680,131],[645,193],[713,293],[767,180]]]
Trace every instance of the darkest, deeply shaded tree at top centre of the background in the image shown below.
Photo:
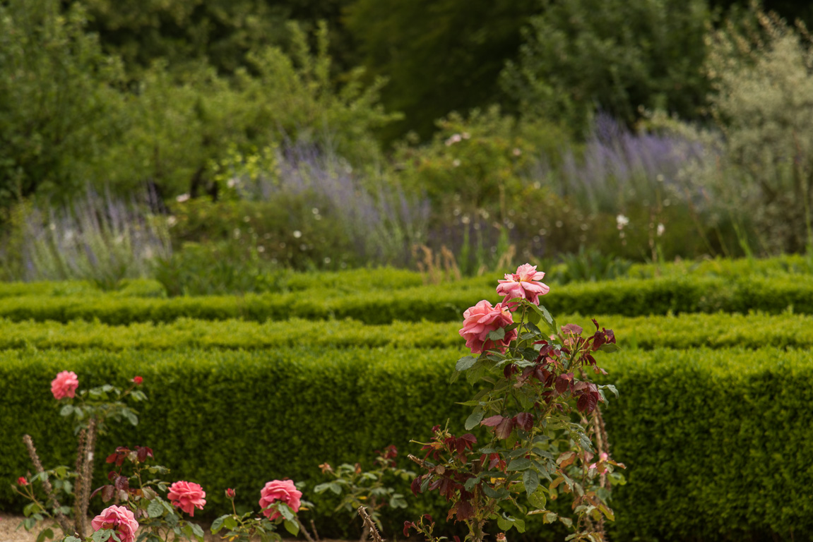
[[[346,25],[372,76],[386,76],[381,99],[405,118],[384,136],[433,132],[450,111],[498,100],[498,74],[520,46],[537,0],[357,0]]]

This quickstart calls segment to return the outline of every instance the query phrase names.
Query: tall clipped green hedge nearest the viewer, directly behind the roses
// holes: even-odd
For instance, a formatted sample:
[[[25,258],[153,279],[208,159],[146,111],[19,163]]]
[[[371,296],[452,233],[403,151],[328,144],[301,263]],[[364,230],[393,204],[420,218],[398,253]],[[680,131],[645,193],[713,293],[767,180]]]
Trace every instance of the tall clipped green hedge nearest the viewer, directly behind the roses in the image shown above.
[[[434,423],[459,429],[466,384],[451,387],[457,349],[267,349],[157,353],[0,353],[0,473],[28,469],[28,431],[47,465],[72,462],[49,382],[145,379],[136,430],[112,427],[99,456],[149,445],[172,476],[255,505],[267,479],[324,481],[321,462],[355,462],[396,444],[415,453]],[[657,349],[604,357],[621,396],[605,409],[613,454],[628,465],[616,488],[615,540],[813,537],[813,364],[806,351]],[[11,491],[0,483],[0,501]],[[14,505],[19,505],[15,503]],[[98,503],[96,504],[98,505]],[[8,509],[8,508],[7,508]],[[320,516],[331,517],[330,508]],[[410,516],[407,516],[409,518]],[[345,522],[338,518],[337,522]],[[323,535],[328,535],[324,531]]]

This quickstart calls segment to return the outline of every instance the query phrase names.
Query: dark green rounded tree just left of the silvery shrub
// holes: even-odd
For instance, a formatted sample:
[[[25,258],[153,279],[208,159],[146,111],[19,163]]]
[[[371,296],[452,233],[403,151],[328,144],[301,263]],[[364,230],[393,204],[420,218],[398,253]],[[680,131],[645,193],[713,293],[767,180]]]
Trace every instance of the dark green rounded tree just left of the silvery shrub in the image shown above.
[[[519,60],[502,73],[530,114],[581,129],[597,108],[632,123],[639,106],[696,118],[710,15],[704,0],[543,0]]]

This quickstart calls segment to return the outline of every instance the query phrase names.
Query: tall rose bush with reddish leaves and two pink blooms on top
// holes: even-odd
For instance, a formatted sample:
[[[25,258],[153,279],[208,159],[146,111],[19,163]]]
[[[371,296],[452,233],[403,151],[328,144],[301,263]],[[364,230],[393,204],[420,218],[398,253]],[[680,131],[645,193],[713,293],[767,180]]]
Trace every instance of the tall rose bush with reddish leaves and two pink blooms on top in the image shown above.
[[[613,352],[615,334],[599,328],[583,336],[576,324],[561,328],[539,297],[550,291],[544,273],[529,264],[498,281],[501,303],[480,301],[463,314],[460,335],[472,354],[457,362],[454,382],[465,375],[477,390],[464,427],[487,427],[478,442],[472,433],[455,436],[433,427],[424,457],[410,456],[424,469],[412,491],[437,491],[450,502],[448,518],[468,528],[467,542],[481,542],[486,524],[525,530],[524,516],[542,514],[546,523],[572,530],[566,540],[606,540],[604,520],[615,518],[607,504],[611,483],[624,483],[613,467],[598,404],[610,385],[594,384],[589,372],[602,373],[593,354]],[[545,331],[543,332],[542,329]],[[594,458],[598,457],[598,461]],[[572,495],[572,513],[546,508],[548,500]],[[435,542],[432,518],[405,522]],[[502,538],[504,535],[501,533]],[[501,537],[498,536],[498,540]]]

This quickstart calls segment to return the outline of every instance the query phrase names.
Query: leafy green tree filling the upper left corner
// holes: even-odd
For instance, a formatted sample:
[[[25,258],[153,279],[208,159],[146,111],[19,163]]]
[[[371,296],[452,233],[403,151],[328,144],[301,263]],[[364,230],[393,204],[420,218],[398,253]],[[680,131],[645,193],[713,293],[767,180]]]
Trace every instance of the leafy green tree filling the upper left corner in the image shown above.
[[[0,2],[0,205],[84,185],[117,137],[120,63],[59,0]]]

